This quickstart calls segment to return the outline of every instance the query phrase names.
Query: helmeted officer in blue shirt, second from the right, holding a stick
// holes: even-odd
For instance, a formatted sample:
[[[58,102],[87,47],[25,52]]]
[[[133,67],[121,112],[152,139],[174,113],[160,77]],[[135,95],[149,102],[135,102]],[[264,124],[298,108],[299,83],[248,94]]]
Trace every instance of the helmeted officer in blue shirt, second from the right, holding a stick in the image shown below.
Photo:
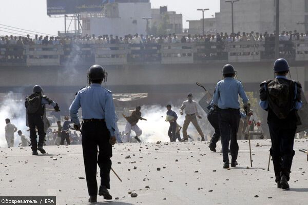
[[[234,79],[235,69],[232,65],[225,65],[222,69],[224,79],[217,83],[213,103],[219,109],[219,128],[223,156],[223,168],[229,168],[228,147],[232,156],[231,167],[236,167],[239,145],[237,132],[240,124],[239,95],[243,99],[244,110],[247,110],[248,98],[240,81]]]

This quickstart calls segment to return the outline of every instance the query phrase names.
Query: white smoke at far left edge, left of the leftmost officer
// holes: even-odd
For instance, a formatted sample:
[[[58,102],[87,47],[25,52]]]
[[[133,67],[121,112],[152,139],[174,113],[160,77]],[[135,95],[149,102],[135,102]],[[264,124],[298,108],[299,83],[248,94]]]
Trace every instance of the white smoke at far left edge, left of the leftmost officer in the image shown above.
[[[26,127],[26,110],[24,106],[24,99],[13,92],[8,93],[0,105],[0,147],[7,147],[5,139],[5,119],[9,118],[11,124],[14,124],[18,130],[29,138],[28,128]],[[21,137],[14,133],[14,147],[21,142]]]

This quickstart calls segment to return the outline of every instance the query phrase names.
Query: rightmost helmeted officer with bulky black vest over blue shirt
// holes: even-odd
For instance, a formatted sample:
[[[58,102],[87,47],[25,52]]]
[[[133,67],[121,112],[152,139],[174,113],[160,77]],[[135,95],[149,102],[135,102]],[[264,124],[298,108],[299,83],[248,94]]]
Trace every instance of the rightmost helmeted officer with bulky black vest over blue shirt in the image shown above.
[[[269,134],[271,135],[274,172],[277,187],[290,189],[290,171],[294,137],[300,120],[296,111],[301,109],[301,85],[286,77],[289,66],[285,59],[275,61],[275,79],[266,80],[260,85],[260,106],[266,110]]]

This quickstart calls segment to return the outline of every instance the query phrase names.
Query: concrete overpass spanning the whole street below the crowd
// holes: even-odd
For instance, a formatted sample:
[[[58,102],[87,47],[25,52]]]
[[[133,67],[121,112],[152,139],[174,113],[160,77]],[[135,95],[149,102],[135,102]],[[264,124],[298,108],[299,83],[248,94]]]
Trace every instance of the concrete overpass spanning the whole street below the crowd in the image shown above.
[[[308,90],[308,43],[284,44],[281,57]],[[87,85],[93,64],[107,68],[106,86],[115,93],[200,92],[196,81],[214,89],[227,63],[235,66],[246,91],[258,91],[261,81],[274,76],[272,47],[266,42],[25,46],[17,63],[0,62],[0,92],[28,93],[40,84],[49,93],[75,93]]]

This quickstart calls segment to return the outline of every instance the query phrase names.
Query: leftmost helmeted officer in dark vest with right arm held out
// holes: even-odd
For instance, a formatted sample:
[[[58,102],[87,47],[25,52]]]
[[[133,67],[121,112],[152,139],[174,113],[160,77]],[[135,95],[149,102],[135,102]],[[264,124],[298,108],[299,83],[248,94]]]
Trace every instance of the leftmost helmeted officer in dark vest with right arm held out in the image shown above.
[[[30,140],[31,140],[31,149],[33,155],[38,155],[37,150],[42,154],[45,154],[46,151],[43,149],[44,139],[46,133],[44,131],[44,121],[43,115],[45,114],[45,105],[51,105],[54,108],[54,111],[59,112],[60,108],[51,99],[42,94],[43,89],[41,86],[33,87],[33,94],[26,97],[25,107],[28,115],[28,124],[30,128]],[[38,131],[38,143],[36,130]]]

